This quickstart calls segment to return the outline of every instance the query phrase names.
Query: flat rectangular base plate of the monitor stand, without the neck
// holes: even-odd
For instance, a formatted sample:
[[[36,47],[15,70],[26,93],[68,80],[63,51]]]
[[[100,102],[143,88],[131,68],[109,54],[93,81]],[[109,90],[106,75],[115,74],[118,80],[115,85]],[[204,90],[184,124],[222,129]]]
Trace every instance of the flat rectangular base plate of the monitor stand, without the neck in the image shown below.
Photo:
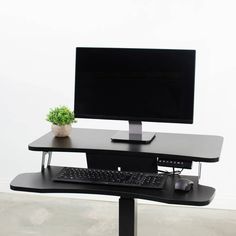
[[[129,133],[129,131],[118,131],[113,137],[112,142],[148,144],[155,138],[156,133],[142,132],[141,134]]]

